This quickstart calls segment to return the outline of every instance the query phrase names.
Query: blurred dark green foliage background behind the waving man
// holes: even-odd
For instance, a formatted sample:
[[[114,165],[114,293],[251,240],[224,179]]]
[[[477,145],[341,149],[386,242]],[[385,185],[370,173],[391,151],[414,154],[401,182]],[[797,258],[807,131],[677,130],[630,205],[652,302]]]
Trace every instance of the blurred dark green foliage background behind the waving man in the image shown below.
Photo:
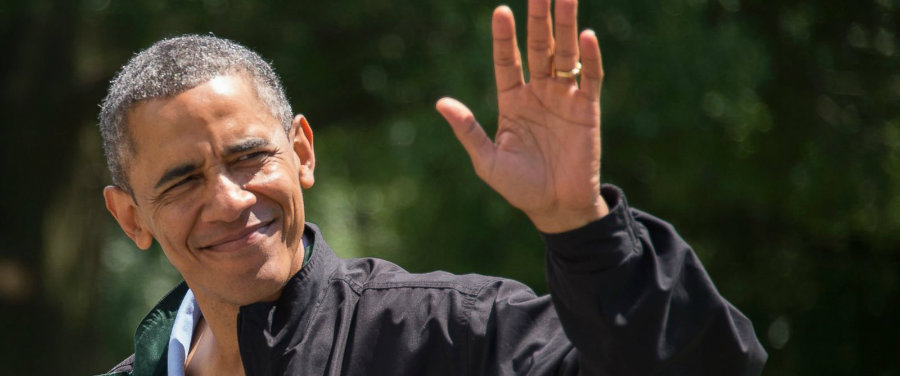
[[[523,26],[525,1],[509,5]],[[546,292],[537,233],[477,179],[433,110],[452,95],[494,128],[494,6],[0,0],[4,372],[107,370],[179,281],[159,249],[137,250],[106,212],[96,117],[132,54],[183,33],[231,38],[273,62],[316,132],[307,218],[338,253]],[[694,246],[752,319],[767,375],[900,374],[898,8],[580,6],[607,73],[603,181]]]

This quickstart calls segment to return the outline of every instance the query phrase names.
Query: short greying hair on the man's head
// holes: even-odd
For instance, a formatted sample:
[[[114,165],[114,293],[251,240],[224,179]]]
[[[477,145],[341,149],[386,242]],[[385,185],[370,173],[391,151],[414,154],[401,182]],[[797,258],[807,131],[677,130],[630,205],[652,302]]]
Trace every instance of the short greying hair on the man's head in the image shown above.
[[[113,184],[131,191],[126,162],[134,152],[127,115],[141,101],[167,98],[216,76],[249,78],[272,116],[291,128],[291,105],[272,66],[256,52],[212,35],[184,35],[156,42],[134,55],[112,79],[100,105],[100,135]]]

